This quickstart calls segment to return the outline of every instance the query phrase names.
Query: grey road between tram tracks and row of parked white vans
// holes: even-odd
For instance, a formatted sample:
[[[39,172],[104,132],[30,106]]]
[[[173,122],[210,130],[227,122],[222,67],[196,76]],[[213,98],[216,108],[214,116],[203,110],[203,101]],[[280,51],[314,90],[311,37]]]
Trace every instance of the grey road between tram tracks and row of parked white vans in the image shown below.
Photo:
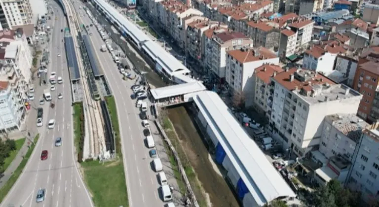
[[[84,25],[90,25],[92,21],[88,18],[84,10],[80,10],[79,5],[83,5],[76,1],[76,12],[79,15]],[[118,112],[118,122],[120,125],[121,145],[123,163],[125,168],[125,179],[128,189],[129,206],[130,207],[162,207],[165,203],[162,200],[160,193],[160,185],[157,180],[157,173],[152,168],[152,158],[149,156],[149,149],[145,145],[145,137],[143,135],[142,120],[139,118],[139,109],[135,106],[135,101],[131,100],[131,86],[134,80],[122,80],[122,75],[118,71],[112,56],[109,52],[101,52],[101,45],[105,44],[101,39],[95,26],[90,27],[92,33],[91,41],[95,49],[95,54],[99,58],[100,67],[104,69],[110,88],[112,89]],[[152,125],[152,122],[151,122]],[[152,133],[155,130],[152,129]],[[164,157],[167,162],[163,162],[163,169],[167,174],[169,184],[178,189],[175,178],[172,176],[172,171],[168,174],[168,169],[171,168],[164,152],[162,140],[155,138],[159,157]],[[159,146],[158,146],[159,145]],[[163,148],[163,150],[161,150]],[[166,171],[167,169],[167,171]],[[171,179],[170,179],[171,178]],[[178,196],[179,197],[179,196]],[[177,198],[178,198],[177,197]],[[179,199],[174,201],[177,207],[181,206]]]

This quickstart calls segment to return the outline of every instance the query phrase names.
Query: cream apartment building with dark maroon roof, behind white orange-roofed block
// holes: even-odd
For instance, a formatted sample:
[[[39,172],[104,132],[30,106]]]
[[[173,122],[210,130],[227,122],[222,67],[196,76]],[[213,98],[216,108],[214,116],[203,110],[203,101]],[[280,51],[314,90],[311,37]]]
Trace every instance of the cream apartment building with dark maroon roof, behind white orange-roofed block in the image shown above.
[[[253,47],[253,40],[242,33],[224,32],[213,35],[212,49],[205,59],[212,60],[211,70],[218,79],[225,79],[227,51]]]

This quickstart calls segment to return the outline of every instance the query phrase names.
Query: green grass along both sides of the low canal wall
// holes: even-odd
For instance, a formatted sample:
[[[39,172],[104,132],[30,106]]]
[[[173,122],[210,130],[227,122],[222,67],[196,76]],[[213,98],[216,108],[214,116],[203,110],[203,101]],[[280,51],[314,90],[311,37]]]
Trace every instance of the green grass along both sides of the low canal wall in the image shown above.
[[[174,130],[174,126],[172,125],[172,123],[168,117],[165,117],[162,120],[162,122],[163,122],[163,126],[162,126],[163,130],[166,133],[167,137],[170,139],[172,145],[175,146],[175,149],[178,153],[179,159],[182,162],[184,171],[186,172],[186,175],[187,175],[188,180],[189,180],[189,184],[191,185],[192,190],[195,194],[197,203],[199,204],[200,207],[206,207],[207,202],[206,202],[206,199],[204,197],[204,194],[202,193],[202,187],[197,180],[196,174],[193,171],[193,168],[191,167],[189,159],[188,159],[186,153],[184,152],[182,145],[179,143],[178,137],[177,137],[175,130]],[[171,150],[169,149],[168,144],[166,142],[164,142],[164,145],[166,148],[166,152],[168,152],[167,155],[170,158],[170,164],[171,164],[171,167],[173,169],[175,178],[178,182],[179,190],[182,194],[185,194],[187,192],[186,185],[184,183],[184,180],[182,179],[182,174],[179,172],[178,164],[175,160],[173,153],[171,153]]]

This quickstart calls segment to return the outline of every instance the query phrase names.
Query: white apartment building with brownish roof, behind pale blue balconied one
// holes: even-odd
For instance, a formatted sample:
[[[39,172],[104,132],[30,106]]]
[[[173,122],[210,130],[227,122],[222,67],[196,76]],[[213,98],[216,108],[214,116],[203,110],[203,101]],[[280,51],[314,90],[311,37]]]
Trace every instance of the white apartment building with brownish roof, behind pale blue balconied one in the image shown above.
[[[14,66],[24,86],[31,81],[32,61],[33,56],[22,29],[0,32],[0,62],[2,65]]]

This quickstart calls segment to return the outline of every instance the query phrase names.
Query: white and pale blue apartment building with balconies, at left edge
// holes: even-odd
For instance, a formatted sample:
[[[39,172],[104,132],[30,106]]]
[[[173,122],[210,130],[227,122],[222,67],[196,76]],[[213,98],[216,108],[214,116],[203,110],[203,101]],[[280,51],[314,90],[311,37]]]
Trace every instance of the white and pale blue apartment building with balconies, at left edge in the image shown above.
[[[0,133],[20,130],[25,120],[25,89],[19,84],[16,69],[0,69]]]

